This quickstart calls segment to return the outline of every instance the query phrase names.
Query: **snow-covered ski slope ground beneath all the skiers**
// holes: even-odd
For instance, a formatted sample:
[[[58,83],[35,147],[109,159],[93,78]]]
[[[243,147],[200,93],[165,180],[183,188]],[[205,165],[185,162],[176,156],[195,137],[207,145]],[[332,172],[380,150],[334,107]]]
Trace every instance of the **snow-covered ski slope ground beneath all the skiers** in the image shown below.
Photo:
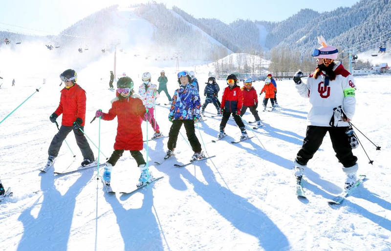
[[[192,70],[190,66],[181,69]],[[109,110],[115,96],[107,90],[108,81],[99,80],[109,71],[100,67],[90,64],[78,72],[78,83],[87,91],[85,132],[98,144],[100,128],[101,151],[109,157],[116,119],[89,123],[97,109]],[[65,70],[54,68],[51,71],[58,74]],[[140,72],[128,74],[137,87],[141,80],[136,74],[143,72],[139,68]],[[164,69],[173,95],[177,87],[174,68]],[[197,70],[204,98],[208,69]],[[153,71],[156,83],[159,68]],[[305,135],[309,102],[299,97],[292,80],[277,82],[281,110],[261,112],[260,105],[264,126],[256,132],[248,130],[250,136],[257,137],[231,144],[239,138],[239,128],[229,120],[225,130],[228,136],[212,143],[220,119],[206,117],[199,123],[199,132],[196,127],[196,134],[202,149],[216,157],[184,168],[174,167],[175,163],[188,162],[193,154],[179,135],[176,156],[154,165],[153,161],[160,160],[167,151],[168,138],[149,141],[152,174],[164,178],[138,193],[119,194],[133,190],[140,175],[135,160],[125,152],[112,172],[112,188],[117,193],[109,195],[96,179],[96,170],[53,174],[54,170],[76,168],[82,161],[72,134],[66,140],[76,160],[72,163],[72,154],[63,144],[54,170],[39,172],[57,132],[49,116],[57,108],[64,85],[60,87],[60,80],[54,77],[44,85],[41,78],[23,79],[26,81],[14,87],[7,82],[0,88],[2,119],[42,87],[0,124],[0,178],[14,192],[0,204],[0,250],[391,250],[391,126],[387,112],[391,76],[355,78],[357,107],[352,123],[382,150],[375,151],[358,134],[374,163],[368,164],[361,146],[353,150],[358,156],[358,173],[366,174],[368,179],[340,206],[326,203],[342,191],[345,180],[328,135],[304,172],[308,200],[295,196],[292,161]],[[226,87],[225,81],[218,83],[221,89]],[[260,92],[263,83],[257,81],[254,86]],[[221,95],[222,91],[219,98]],[[158,98],[162,104],[167,101],[163,93]],[[157,123],[168,135],[169,107],[161,105],[156,110]],[[216,114],[213,104],[205,114]],[[249,111],[243,118],[254,121]],[[152,127],[143,122],[145,138],[147,127],[148,137],[152,136]],[[181,133],[185,136],[183,127]],[[90,145],[98,157],[97,149]],[[142,152],[145,157],[145,149]],[[99,155],[100,162],[105,156]]]

